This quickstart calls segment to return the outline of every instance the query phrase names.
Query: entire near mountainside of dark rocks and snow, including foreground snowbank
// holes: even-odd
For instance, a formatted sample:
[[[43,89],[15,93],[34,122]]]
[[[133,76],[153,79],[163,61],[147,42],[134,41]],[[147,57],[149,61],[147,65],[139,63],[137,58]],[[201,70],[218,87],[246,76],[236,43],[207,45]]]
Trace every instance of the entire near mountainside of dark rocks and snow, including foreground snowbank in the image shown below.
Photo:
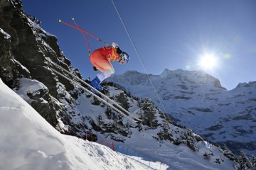
[[[245,162],[253,166],[245,155],[235,157],[228,148],[170,123],[151,98],[140,99],[105,84],[107,96],[143,119],[134,123],[55,74],[50,68],[62,72],[58,64],[82,79],[60,51],[57,38],[26,15],[21,1],[1,0],[0,18],[1,169],[239,169]],[[221,89],[218,82],[215,88]],[[112,142],[123,155],[85,139]]]

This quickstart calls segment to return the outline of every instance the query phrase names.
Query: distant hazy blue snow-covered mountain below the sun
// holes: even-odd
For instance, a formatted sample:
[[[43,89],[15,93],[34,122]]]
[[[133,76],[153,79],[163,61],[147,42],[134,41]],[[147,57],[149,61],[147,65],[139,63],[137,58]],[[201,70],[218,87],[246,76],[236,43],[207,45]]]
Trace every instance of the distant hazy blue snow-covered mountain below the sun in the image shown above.
[[[210,141],[225,143],[237,154],[239,149],[256,153],[256,81],[227,91],[203,71],[182,69],[165,69],[159,75],[129,71],[107,81],[134,96],[151,98],[177,123]]]

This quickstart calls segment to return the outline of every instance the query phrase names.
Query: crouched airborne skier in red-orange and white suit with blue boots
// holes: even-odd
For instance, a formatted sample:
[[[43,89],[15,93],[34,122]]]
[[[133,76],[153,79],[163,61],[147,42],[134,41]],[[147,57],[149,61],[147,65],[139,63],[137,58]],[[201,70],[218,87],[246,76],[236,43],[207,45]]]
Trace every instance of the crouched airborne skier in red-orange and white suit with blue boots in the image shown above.
[[[90,55],[90,62],[94,66],[95,71],[100,70],[100,74],[97,74],[95,79],[92,79],[91,85],[95,89],[102,92],[102,86],[100,83],[114,74],[114,68],[110,62],[118,61],[119,64],[124,64],[129,61],[129,55],[126,52],[122,52],[116,42],[112,42],[112,47],[101,47],[92,52]]]

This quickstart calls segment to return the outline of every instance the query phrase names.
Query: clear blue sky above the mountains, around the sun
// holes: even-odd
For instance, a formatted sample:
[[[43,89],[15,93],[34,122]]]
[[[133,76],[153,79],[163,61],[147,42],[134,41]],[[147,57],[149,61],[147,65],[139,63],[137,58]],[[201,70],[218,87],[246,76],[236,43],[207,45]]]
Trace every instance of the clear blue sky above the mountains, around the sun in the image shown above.
[[[112,0],[22,1],[26,13],[36,16],[41,27],[58,38],[65,57],[85,79],[97,74],[88,58],[87,43],[79,30],[58,23],[58,18],[73,23],[74,17],[80,28],[109,44],[117,42],[131,60],[125,65],[112,62],[115,74],[203,69],[228,90],[240,82],[256,81],[255,0],[115,0],[141,60]],[[87,38],[91,52],[103,46]],[[200,64],[205,55],[215,58],[211,68]]]

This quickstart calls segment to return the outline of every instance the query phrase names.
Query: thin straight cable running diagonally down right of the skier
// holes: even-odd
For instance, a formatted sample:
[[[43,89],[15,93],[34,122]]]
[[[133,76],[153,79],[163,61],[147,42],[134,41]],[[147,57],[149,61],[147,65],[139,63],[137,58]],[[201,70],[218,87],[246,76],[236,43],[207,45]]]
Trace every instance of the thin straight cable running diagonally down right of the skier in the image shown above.
[[[157,98],[159,98],[159,101],[160,101],[160,103],[161,103],[161,106],[164,108],[165,113],[167,113],[166,108],[164,107],[164,104],[162,103],[161,98],[159,97],[159,94],[157,93],[156,88],[155,88],[153,82],[151,81],[148,72],[146,71],[146,67],[145,67],[144,63],[142,62],[142,58],[141,58],[140,55],[139,55],[139,52],[138,52],[138,50],[137,50],[137,47],[134,45],[134,42],[133,42],[133,40],[132,40],[132,38],[131,38],[131,36],[130,36],[130,34],[129,34],[129,31],[127,30],[127,27],[125,26],[124,21],[122,20],[122,17],[121,17],[120,14],[119,14],[119,11],[117,10],[117,6],[115,6],[114,0],[111,0],[111,1],[112,1],[112,4],[113,4],[113,6],[114,6],[115,11],[117,11],[117,15],[119,16],[119,19],[120,19],[120,21],[122,22],[122,25],[124,26],[124,30],[126,31],[128,37],[129,37],[129,40],[132,42],[132,46],[134,47],[134,50],[135,50],[135,52],[137,53],[137,56],[139,57],[139,61],[142,63],[142,66],[143,66],[143,68],[144,68],[144,70],[145,70],[145,72],[146,72],[146,75],[147,75],[147,77],[149,78],[149,81],[150,81],[151,85],[153,86],[154,92],[156,93]],[[167,116],[168,116],[168,113],[167,113]],[[169,116],[168,116],[168,117],[169,117]]]

